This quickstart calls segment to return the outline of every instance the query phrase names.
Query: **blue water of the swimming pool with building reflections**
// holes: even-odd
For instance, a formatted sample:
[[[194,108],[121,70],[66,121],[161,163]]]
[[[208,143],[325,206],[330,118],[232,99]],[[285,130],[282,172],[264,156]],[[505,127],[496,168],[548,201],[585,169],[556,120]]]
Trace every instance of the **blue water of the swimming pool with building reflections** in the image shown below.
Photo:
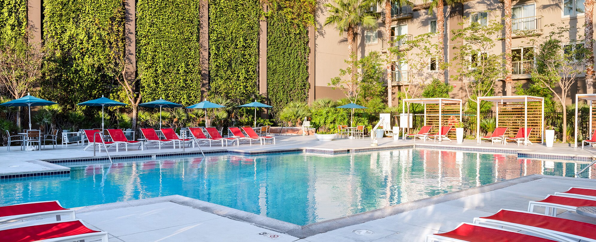
[[[586,164],[398,149],[172,156],[69,166],[70,175],[0,181],[1,204],[60,200],[72,208],[180,194],[306,225],[523,175],[573,176]]]

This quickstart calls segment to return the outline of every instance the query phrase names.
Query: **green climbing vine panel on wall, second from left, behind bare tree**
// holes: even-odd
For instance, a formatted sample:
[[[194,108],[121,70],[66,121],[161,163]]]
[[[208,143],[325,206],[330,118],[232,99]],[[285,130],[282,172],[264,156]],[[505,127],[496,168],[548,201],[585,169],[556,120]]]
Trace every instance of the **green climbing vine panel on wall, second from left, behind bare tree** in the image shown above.
[[[122,0],[45,0],[40,95],[72,108],[119,89],[110,46],[124,41]]]

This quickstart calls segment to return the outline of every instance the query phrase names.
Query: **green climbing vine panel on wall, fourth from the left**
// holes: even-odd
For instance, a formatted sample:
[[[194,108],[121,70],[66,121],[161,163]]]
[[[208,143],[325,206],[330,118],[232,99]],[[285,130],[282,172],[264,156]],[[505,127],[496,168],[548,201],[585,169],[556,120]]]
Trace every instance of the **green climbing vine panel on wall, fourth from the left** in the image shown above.
[[[237,103],[257,93],[259,0],[209,1],[209,96]]]

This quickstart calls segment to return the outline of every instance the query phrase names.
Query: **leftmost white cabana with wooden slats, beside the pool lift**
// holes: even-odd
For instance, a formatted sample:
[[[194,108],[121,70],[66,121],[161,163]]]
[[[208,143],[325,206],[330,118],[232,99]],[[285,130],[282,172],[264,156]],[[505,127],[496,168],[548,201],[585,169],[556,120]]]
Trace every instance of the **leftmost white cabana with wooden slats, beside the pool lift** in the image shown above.
[[[408,108],[406,109],[406,103],[408,103]],[[458,120],[461,122],[461,111],[462,111],[462,100],[461,99],[451,99],[451,98],[417,98],[417,99],[403,99],[402,102],[402,117],[407,118],[409,120],[409,105],[411,103],[418,103],[424,106],[424,125],[432,124],[433,130],[437,132],[440,130],[440,127],[448,125],[449,122],[452,122],[452,118],[444,119],[443,115],[450,115],[450,116],[459,116]],[[430,113],[429,113],[430,111]],[[406,125],[403,127],[403,133],[406,132],[406,128],[409,129],[411,124]],[[435,129],[436,127],[436,129]],[[403,136],[405,139],[405,135]]]

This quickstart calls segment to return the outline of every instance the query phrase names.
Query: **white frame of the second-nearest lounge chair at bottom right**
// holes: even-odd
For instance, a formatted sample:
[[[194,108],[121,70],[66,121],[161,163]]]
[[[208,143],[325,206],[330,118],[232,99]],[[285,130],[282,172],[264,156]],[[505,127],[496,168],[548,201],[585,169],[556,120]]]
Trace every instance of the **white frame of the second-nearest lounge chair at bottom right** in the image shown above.
[[[520,211],[520,210],[512,210],[512,209],[501,209],[501,210],[508,210],[508,211],[519,212],[519,213],[529,213],[529,214],[535,214],[535,215],[541,215],[541,216],[548,216],[548,215],[544,215],[544,214],[540,214],[540,213]],[[499,212],[501,212],[501,210],[499,210]],[[531,232],[532,234],[544,236],[547,238],[551,237],[552,234],[555,234],[555,235],[562,236],[562,237],[573,238],[575,240],[596,242],[596,240],[592,240],[591,238],[586,238],[586,237],[578,236],[575,234],[567,234],[566,232],[547,230],[545,228],[532,227],[532,226],[523,225],[523,224],[515,224],[512,222],[505,222],[505,221],[500,221],[500,220],[496,220],[496,219],[474,218],[474,224],[499,226],[501,228],[507,227],[507,228],[511,228],[516,231],[522,230],[522,231],[526,231],[526,232]]]

